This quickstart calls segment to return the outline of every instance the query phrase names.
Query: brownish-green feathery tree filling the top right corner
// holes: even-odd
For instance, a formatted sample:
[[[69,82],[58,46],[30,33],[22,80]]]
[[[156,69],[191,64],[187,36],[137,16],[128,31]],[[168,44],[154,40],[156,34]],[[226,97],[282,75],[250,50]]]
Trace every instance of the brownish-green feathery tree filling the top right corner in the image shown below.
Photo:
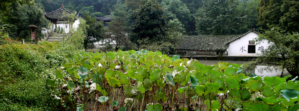
[[[267,24],[280,27],[287,33],[298,32],[298,0],[260,0],[257,24],[263,29]]]

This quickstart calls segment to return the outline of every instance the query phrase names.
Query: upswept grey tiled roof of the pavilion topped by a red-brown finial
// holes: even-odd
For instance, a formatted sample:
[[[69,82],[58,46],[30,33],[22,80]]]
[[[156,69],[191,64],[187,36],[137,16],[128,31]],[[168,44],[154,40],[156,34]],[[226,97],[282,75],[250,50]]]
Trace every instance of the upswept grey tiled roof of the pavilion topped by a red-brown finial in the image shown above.
[[[61,8],[57,9],[56,11],[50,13],[45,12],[45,17],[47,19],[57,19],[59,21],[64,21],[65,19],[68,19],[67,15],[69,14],[73,14],[73,13],[65,9],[64,6],[62,5]]]

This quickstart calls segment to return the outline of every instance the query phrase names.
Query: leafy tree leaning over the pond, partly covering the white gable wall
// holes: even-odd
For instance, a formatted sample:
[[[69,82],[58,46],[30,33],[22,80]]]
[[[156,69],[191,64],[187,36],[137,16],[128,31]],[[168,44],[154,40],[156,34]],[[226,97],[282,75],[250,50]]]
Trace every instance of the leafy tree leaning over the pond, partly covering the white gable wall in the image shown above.
[[[267,63],[275,69],[287,69],[293,76],[299,76],[299,34],[288,34],[279,27],[269,26],[269,30],[264,30],[255,39],[257,44],[263,40],[268,40],[269,47],[264,49],[259,57],[247,64],[244,69],[250,70],[260,63]]]

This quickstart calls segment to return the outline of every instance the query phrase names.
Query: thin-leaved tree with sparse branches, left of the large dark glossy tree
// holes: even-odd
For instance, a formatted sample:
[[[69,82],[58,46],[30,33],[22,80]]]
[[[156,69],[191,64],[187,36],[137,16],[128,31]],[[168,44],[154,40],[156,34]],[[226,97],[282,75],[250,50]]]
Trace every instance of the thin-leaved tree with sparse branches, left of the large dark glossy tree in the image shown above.
[[[130,44],[130,40],[126,32],[124,32],[124,20],[116,18],[112,21],[112,24],[109,26],[108,39],[109,42],[112,42],[115,48],[115,51],[121,46],[128,47]]]

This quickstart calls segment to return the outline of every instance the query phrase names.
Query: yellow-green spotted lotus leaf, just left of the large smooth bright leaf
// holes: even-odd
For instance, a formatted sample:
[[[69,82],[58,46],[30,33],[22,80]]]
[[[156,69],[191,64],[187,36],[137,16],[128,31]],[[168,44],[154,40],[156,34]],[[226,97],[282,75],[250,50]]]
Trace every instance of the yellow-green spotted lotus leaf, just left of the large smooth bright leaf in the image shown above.
[[[257,92],[263,91],[264,83],[262,80],[248,80],[245,86],[249,88],[249,90]]]

